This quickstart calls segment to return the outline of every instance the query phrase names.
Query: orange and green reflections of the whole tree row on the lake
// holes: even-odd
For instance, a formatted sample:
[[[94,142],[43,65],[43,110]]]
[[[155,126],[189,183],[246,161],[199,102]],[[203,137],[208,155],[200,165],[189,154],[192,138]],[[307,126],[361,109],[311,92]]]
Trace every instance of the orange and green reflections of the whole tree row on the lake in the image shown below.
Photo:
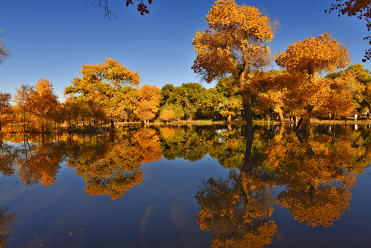
[[[198,161],[209,154],[229,173],[209,178],[193,193],[200,205],[195,217],[200,229],[213,233],[213,247],[264,247],[279,233],[272,218],[276,207],[304,225],[330,227],[349,208],[357,174],[370,166],[366,126],[357,132],[351,125],[317,126],[311,132],[297,134],[284,125],[259,127],[254,133],[223,126],[167,126],[4,137],[0,172],[16,175],[26,186],[52,186],[65,161],[85,180],[88,196],[116,200],[143,182],[142,163],[162,157]],[[10,216],[4,218],[7,223],[13,221]]]

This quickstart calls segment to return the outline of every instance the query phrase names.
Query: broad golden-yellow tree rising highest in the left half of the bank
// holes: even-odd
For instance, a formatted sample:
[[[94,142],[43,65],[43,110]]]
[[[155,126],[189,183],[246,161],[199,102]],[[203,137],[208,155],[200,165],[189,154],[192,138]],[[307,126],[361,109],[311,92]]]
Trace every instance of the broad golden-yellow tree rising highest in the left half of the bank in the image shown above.
[[[81,94],[84,99],[94,99],[102,106],[114,127],[118,101],[116,94],[125,85],[138,86],[138,72],[132,72],[120,65],[119,61],[107,58],[105,63],[98,65],[83,65],[81,78],[74,78],[72,85],[65,87],[65,94]]]

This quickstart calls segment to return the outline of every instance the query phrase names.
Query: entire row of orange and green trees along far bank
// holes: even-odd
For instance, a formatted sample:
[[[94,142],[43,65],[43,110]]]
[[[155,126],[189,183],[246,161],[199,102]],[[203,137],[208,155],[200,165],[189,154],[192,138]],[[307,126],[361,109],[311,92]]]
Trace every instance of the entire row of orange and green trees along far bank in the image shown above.
[[[107,4],[94,1],[98,5],[102,2]],[[140,6],[140,11],[147,12],[142,1]],[[339,8],[336,5],[332,10]],[[5,119],[22,123],[23,131],[29,130],[31,123],[37,123],[43,131],[52,122],[72,125],[83,121],[85,125],[110,121],[114,127],[116,121],[147,123],[156,118],[231,121],[242,113],[248,130],[253,131],[254,115],[276,112],[281,121],[284,115],[301,116],[297,130],[307,131],[312,114],[335,118],[363,107],[370,110],[370,72],[359,64],[335,72],[350,64],[350,56],[348,48],[330,34],[288,45],[286,51],[275,56],[282,71],[264,72],[271,63],[268,43],[273,40],[277,21],[255,7],[217,0],[206,22],[209,28],[196,32],[192,42],[197,52],[192,69],[207,83],[218,80],[215,88],[206,90],[198,83],[184,83],[178,87],[167,84],[162,89],[143,85],[138,89],[138,72],[107,58],[104,63],[83,65],[82,77],[65,87],[64,103],[56,101],[52,85],[41,79],[34,87],[21,85],[13,99],[16,106],[10,106],[9,94],[1,93],[0,114],[15,113]],[[0,50],[1,62],[7,56],[3,43]],[[324,72],[331,73],[321,76]],[[0,118],[0,127],[1,120],[4,118]]]

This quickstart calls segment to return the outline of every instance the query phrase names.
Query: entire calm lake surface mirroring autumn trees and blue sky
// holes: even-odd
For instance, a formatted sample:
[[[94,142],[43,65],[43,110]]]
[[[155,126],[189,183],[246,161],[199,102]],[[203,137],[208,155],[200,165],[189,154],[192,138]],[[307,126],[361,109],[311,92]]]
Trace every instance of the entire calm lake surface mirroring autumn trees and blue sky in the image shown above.
[[[3,134],[0,247],[371,247],[370,132]]]

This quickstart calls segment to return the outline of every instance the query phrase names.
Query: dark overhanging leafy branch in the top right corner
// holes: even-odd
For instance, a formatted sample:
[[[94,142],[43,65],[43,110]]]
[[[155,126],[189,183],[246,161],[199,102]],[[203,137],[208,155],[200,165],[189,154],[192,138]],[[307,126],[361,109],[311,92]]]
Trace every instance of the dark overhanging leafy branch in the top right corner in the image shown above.
[[[371,30],[371,1],[369,0],[336,0],[331,4],[329,10],[325,10],[330,14],[331,11],[338,11],[339,17],[341,14],[348,14],[349,17],[357,16],[357,19],[365,20],[368,32]],[[363,40],[369,41],[371,44],[371,35],[369,34]],[[371,49],[365,50],[365,59],[363,63],[371,59]]]

